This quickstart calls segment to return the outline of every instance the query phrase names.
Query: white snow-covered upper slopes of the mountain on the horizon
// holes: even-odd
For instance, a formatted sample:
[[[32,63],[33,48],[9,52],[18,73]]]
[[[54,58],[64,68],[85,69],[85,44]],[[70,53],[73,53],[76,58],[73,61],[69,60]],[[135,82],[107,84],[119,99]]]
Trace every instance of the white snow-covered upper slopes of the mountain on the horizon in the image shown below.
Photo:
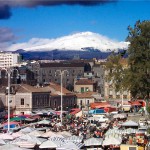
[[[56,39],[33,38],[27,43],[13,44],[8,50],[24,49],[26,51],[79,50],[87,48],[106,52],[108,50],[127,49],[127,42],[111,40],[93,32],[80,32]]]

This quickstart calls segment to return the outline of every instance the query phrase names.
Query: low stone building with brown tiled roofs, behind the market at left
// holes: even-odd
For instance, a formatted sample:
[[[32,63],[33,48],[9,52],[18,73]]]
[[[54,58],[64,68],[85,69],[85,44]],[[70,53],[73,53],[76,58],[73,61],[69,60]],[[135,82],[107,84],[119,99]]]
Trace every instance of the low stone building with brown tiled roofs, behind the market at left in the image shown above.
[[[76,96],[63,88],[63,109],[76,105]],[[45,87],[33,87],[27,84],[11,85],[10,90],[11,113],[29,114],[38,109],[60,109],[60,86],[50,84]],[[5,86],[0,88],[0,107],[7,109],[8,91]]]

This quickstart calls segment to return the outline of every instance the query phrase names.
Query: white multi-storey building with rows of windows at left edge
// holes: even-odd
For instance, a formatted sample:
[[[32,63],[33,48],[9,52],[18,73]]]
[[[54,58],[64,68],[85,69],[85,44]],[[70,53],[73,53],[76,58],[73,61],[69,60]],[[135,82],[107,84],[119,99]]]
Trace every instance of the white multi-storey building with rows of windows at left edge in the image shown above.
[[[0,68],[17,66],[20,62],[21,55],[19,53],[0,52]]]

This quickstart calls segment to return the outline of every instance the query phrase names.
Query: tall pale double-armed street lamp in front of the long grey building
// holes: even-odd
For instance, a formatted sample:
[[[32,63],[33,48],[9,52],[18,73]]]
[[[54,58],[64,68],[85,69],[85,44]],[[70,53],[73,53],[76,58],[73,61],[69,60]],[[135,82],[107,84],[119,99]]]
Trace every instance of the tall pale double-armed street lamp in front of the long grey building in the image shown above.
[[[62,77],[64,75],[65,72],[69,73],[68,70],[56,70],[56,72],[59,73],[60,75],[60,82],[61,82],[61,111],[60,111],[60,119],[61,119],[61,125],[62,125],[62,111],[63,111],[63,95],[62,95],[62,87],[63,87],[63,84],[62,84]]]

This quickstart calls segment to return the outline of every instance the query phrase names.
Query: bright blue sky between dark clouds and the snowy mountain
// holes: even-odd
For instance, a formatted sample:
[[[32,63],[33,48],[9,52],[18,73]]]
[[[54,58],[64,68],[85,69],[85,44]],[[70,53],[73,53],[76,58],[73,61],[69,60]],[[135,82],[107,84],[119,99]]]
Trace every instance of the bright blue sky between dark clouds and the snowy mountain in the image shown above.
[[[12,30],[14,42],[31,38],[56,38],[91,31],[124,41],[128,25],[150,20],[150,1],[117,1],[103,5],[55,5],[12,7],[12,16],[0,19],[0,27]]]

